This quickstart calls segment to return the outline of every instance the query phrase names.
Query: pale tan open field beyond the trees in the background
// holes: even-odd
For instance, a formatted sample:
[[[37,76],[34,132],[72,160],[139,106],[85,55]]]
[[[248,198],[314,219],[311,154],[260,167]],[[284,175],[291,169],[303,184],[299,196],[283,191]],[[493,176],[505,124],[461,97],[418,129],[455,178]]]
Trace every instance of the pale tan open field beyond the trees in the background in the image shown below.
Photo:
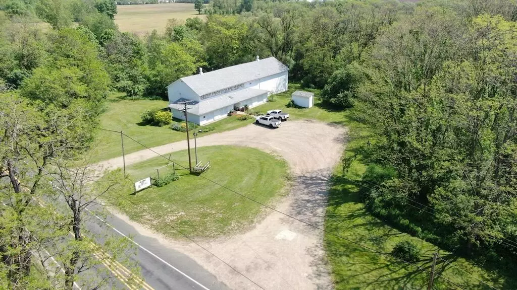
[[[115,23],[118,29],[137,35],[145,35],[156,29],[159,33],[165,31],[169,19],[177,19],[179,23],[187,18],[199,17],[203,20],[206,15],[199,15],[190,3],[163,3],[146,5],[118,5]]]

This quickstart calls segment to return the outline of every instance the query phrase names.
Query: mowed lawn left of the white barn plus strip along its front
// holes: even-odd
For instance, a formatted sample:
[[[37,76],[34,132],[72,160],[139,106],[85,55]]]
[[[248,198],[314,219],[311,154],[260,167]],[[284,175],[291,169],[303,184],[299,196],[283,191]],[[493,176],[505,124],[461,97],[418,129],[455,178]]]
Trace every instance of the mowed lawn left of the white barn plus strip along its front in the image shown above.
[[[165,108],[169,104],[168,102],[161,100],[124,100],[120,98],[121,96],[123,96],[123,94],[113,94],[108,100],[107,110],[101,115],[101,128],[123,131],[124,134],[147,147],[160,146],[187,138],[186,133],[174,131],[169,125],[158,127],[141,124],[140,116],[143,112],[146,110]],[[237,120],[237,116],[233,116],[210,124],[209,126],[214,127],[215,130],[201,134],[233,130],[252,122],[253,120],[239,121]],[[145,149],[145,147],[139,143],[124,137],[125,154],[143,149]],[[120,133],[99,130],[97,142],[91,154],[92,158],[90,158],[90,163],[97,163],[102,160],[121,156],[122,147]]]

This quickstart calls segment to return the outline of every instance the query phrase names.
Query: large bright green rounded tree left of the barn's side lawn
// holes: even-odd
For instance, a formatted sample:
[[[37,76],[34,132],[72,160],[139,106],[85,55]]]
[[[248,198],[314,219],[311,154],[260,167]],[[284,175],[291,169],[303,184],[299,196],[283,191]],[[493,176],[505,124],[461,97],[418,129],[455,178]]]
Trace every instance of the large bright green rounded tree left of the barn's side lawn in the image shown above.
[[[100,114],[109,77],[95,43],[80,30],[64,28],[52,37],[50,59],[34,70],[21,88],[26,98],[60,108],[85,100],[93,116]]]

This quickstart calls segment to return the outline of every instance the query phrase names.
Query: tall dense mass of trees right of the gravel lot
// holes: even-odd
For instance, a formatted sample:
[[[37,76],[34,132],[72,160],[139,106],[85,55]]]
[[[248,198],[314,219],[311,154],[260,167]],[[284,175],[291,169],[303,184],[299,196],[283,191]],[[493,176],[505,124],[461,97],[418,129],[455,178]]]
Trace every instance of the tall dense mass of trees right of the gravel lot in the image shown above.
[[[517,227],[508,219],[516,194],[508,176],[517,172],[509,161],[516,155],[509,130],[517,126],[510,105],[515,23],[428,9],[436,13],[417,10],[379,37],[365,63],[368,80],[355,90],[357,115],[378,139],[364,148],[368,162],[397,173],[389,181],[365,175],[372,180],[365,202],[375,215],[448,249],[515,259],[500,243],[515,238],[509,229]]]

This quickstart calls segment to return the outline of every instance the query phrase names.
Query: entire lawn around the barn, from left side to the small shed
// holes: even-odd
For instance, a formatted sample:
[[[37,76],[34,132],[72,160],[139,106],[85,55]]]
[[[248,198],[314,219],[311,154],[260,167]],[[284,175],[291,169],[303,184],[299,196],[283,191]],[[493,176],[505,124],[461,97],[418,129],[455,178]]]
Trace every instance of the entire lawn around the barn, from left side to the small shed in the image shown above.
[[[314,92],[315,101],[312,108],[296,109],[286,108],[285,105],[291,100],[291,93],[300,89],[298,84],[289,84],[289,90],[269,97],[270,102],[255,107],[251,110],[266,112],[272,109],[282,109],[291,114],[291,120],[315,119],[322,122],[333,124],[349,124],[346,112],[325,108],[318,96],[319,90],[309,90]],[[170,126],[157,127],[152,125],[142,125],[140,116],[146,110],[161,109],[168,105],[168,102],[161,100],[125,100],[124,94],[115,93],[108,99],[107,110],[101,116],[101,128],[123,131],[128,136],[145,144],[147,147],[155,147],[163,144],[184,140],[185,133],[171,130]],[[209,124],[215,130],[204,133],[212,134],[245,126],[253,120],[239,121],[237,116],[225,118],[223,120]],[[92,150],[90,163],[97,163],[102,160],[110,159],[122,155],[120,145],[120,134],[100,130],[97,135],[96,148]],[[140,144],[124,138],[124,152],[126,154],[145,149]]]

